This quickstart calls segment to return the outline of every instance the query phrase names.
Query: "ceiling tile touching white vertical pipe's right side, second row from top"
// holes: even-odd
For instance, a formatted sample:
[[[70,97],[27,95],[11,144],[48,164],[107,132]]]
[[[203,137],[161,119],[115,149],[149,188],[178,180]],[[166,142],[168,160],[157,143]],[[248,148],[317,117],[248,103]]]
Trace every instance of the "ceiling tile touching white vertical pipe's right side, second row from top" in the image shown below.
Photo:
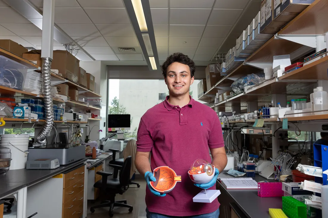
[[[81,8],[55,8],[56,24],[92,24]]]

